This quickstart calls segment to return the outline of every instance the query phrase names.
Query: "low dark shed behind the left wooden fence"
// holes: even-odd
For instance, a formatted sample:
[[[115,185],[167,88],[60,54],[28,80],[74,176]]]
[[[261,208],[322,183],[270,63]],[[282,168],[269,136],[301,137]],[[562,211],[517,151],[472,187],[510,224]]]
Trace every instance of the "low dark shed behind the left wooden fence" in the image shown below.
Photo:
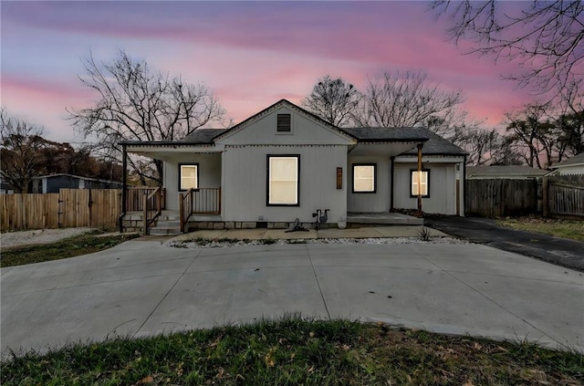
[[[34,177],[32,193],[58,193],[59,189],[120,189],[121,183],[58,173]]]

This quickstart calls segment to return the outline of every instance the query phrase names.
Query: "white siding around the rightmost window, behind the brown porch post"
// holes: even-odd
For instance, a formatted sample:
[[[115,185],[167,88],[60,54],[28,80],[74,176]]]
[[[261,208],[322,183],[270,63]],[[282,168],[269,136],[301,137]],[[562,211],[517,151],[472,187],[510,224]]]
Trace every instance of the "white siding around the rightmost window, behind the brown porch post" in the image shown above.
[[[395,165],[394,206],[396,209],[415,209],[417,197],[410,197],[410,171],[415,163]],[[456,214],[456,174],[452,163],[424,162],[430,170],[430,197],[422,198],[422,211],[432,214]]]

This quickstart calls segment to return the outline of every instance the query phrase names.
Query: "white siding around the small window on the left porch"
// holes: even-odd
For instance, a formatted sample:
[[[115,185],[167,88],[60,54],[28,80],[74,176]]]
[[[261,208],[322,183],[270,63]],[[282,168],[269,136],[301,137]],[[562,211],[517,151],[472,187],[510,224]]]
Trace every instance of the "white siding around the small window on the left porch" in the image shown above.
[[[221,153],[173,154],[164,162],[164,187],[166,188],[166,208],[179,209],[179,163],[199,164],[199,187],[218,188],[221,186]]]

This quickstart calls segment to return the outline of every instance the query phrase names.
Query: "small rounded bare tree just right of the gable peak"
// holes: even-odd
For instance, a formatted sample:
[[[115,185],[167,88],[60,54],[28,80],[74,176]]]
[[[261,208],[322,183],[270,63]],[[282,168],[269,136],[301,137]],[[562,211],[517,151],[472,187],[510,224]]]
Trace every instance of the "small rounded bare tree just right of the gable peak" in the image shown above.
[[[319,78],[302,106],[328,123],[347,126],[362,98],[358,89],[342,78]]]

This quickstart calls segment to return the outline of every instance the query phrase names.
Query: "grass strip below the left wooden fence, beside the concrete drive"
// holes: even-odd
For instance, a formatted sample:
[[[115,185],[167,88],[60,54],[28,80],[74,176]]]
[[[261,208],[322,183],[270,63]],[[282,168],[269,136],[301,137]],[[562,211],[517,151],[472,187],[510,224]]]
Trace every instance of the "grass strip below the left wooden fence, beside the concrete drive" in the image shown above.
[[[104,233],[104,231],[95,230],[51,244],[2,248],[0,266],[23,266],[42,261],[87,255],[111,248],[138,236],[136,234],[99,236]]]

